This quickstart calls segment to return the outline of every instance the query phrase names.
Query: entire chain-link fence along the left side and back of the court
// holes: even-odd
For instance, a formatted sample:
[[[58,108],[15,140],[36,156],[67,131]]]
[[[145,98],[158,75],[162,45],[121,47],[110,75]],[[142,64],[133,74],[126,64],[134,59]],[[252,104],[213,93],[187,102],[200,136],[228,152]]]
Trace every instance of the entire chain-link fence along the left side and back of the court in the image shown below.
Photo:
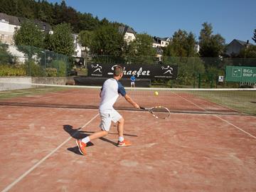
[[[219,82],[225,66],[256,67],[255,58],[178,58],[86,55],[84,65],[75,66],[74,58],[31,46],[0,44],[0,76],[66,77],[87,75],[92,63],[129,65],[178,65],[178,78],[154,79],[152,85],[163,87],[240,87],[246,82]],[[79,73],[82,71],[83,73]],[[247,84],[248,85],[248,84]],[[250,84],[252,85],[252,84]]]

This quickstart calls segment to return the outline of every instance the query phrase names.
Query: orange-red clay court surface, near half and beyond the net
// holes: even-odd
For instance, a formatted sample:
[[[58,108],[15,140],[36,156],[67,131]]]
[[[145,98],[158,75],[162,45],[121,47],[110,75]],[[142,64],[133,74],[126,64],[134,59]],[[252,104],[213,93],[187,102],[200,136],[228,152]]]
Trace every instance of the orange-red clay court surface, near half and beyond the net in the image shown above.
[[[80,97],[76,91],[2,102],[1,191],[256,191],[255,116],[208,114],[206,100],[176,95],[173,103],[206,112],[191,108],[155,119],[148,112],[119,110],[133,145],[117,147],[112,124],[110,134],[92,141],[82,156],[75,139],[97,131],[100,117],[97,109],[68,105],[97,105],[99,98],[98,90]],[[134,100],[157,102],[148,96]],[[47,105],[53,101],[55,106]],[[125,107],[123,99],[118,103]]]

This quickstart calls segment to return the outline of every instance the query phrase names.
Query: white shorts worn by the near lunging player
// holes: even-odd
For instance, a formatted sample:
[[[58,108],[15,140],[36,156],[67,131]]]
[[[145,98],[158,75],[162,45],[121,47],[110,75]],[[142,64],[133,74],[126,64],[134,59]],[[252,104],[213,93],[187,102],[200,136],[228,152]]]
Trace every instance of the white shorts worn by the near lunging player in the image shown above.
[[[111,112],[100,112],[100,118],[100,129],[108,132],[110,131],[111,122],[118,122],[122,116],[116,110],[112,110]]]

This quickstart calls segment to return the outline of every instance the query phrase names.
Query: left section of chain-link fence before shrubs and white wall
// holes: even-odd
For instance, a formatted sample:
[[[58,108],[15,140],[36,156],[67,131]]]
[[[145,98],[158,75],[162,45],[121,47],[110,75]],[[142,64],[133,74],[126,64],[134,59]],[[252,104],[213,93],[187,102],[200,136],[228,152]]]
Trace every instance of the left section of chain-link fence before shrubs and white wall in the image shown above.
[[[0,44],[0,76],[65,77],[72,67],[67,55],[32,46]]]

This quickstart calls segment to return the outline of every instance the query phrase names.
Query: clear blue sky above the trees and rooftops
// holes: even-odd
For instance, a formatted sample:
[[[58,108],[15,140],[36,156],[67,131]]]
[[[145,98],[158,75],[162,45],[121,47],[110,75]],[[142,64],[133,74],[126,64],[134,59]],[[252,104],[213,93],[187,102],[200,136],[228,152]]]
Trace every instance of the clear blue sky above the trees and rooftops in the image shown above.
[[[61,0],[48,0],[50,3]],[[200,36],[204,22],[225,43],[233,39],[252,41],[256,29],[256,0],[65,0],[67,6],[90,13],[100,20],[117,21],[161,38],[172,37],[178,29]]]

